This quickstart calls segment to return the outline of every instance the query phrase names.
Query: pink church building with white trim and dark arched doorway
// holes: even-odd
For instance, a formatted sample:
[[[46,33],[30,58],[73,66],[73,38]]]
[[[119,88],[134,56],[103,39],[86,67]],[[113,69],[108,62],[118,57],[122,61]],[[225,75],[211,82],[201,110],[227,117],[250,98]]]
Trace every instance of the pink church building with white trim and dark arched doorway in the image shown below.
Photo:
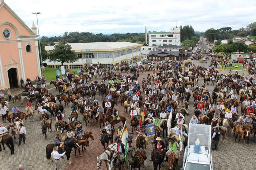
[[[4,0],[0,0],[0,90],[18,88],[41,76],[37,27],[30,29]]]

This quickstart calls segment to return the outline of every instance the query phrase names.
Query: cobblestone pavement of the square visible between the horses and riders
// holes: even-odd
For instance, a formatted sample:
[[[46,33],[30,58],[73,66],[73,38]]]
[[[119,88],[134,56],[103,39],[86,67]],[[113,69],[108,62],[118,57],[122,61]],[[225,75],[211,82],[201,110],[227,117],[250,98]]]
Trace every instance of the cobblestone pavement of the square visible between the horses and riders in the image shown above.
[[[201,64],[199,61],[193,61],[196,65]],[[203,63],[204,66],[207,66],[207,64]],[[223,71],[223,73],[226,73],[228,71]],[[242,73],[242,72],[240,72]],[[245,73],[247,74],[247,73]],[[147,72],[144,72],[143,74],[140,74],[139,82],[142,81],[143,77],[146,77]],[[199,84],[202,84],[202,79],[200,78]],[[212,92],[213,86],[207,86],[209,91]],[[58,92],[53,89],[50,90],[53,94],[57,94]],[[102,104],[101,97],[98,95],[96,96],[96,99],[99,100],[99,104]],[[33,104],[35,101],[33,101]],[[58,102],[59,103],[59,102]],[[193,99],[190,99],[189,102],[189,116],[186,116],[186,122],[188,122],[192,115],[193,115]],[[12,103],[10,103],[10,106],[12,106]],[[20,106],[20,103],[18,103],[18,106]],[[19,107],[21,111],[24,111],[25,108]],[[118,102],[118,106],[116,106],[117,110],[120,113],[124,113],[124,108],[121,106],[120,102]],[[66,113],[70,113],[70,108],[65,108]],[[241,115],[240,108],[238,109],[239,115]],[[125,116],[127,117],[127,123],[128,123],[128,132],[131,132],[131,126],[130,126],[130,120],[128,119],[127,113],[125,113]],[[53,126],[53,132],[47,132],[47,139],[45,140],[44,135],[42,135],[41,132],[41,126],[38,114],[36,113],[34,116],[35,121],[24,121],[25,127],[27,129],[27,136],[26,136],[26,144],[21,144],[18,147],[18,144],[15,144],[15,154],[10,155],[10,149],[6,147],[5,150],[0,152],[1,159],[6,160],[1,161],[0,163],[0,169],[2,170],[13,170],[18,169],[19,164],[23,164],[24,169],[26,170],[53,170],[55,169],[54,162],[50,162],[50,164],[46,164],[46,153],[45,148],[46,145],[49,143],[53,143],[54,138],[54,126]],[[80,121],[82,121],[83,128],[86,129],[86,131],[92,131],[95,137],[95,140],[90,140],[90,146],[86,148],[85,152],[82,152],[82,157],[75,158],[74,150],[71,152],[71,162],[72,165],[67,165],[67,159],[64,156],[64,159],[60,159],[61,169],[81,169],[81,170],[95,170],[97,169],[96,165],[96,158],[103,152],[102,144],[100,143],[100,131],[99,131],[99,125],[97,123],[91,123],[90,126],[86,127],[84,121],[82,120],[82,116],[79,115],[78,118]],[[67,120],[67,117],[65,117],[65,120]],[[54,124],[55,120],[53,120]],[[4,124],[5,125],[5,124]],[[118,125],[121,125],[123,127],[123,124],[119,123],[115,125],[115,127],[118,127]],[[134,133],[135,134],[135,133]],[[63,134],[64,135],[64,134]],[[134,142],[135,137],[133,138]],[[221,137],[222,139],[222,137]],[[220,140],[221,141],[221,140]],[[251,138],[249,140],[249,144],[245,144],[243,142],[240,143],[234,143],[234,137],[232,134],[229,134],[226,137],[226,142],[222,144],[219,143],[219,148],[217,151],[212,152],[212,160],[214,165],[214,170],[253,170],[256,169],[255,164],[253,163],[253,158],[255,158],[256,154],[255,152],[252,152],[252,148],[255,147],[256,139],[253,138],[251,135]],[[132,146],[135,146],[135,143],[132,144]],[[153,164],[150,160],[151,158],[151,142],[149,143],[148,150],[146,150],[147,160],[145,161],[144,165],[147,170],[153,170]],[[180,160],[178,161],[178,166],[176,169],[179,169],[182,166],[183,161],[183,152],[181,152]],[[130,156],[129,156],[130,160]],[[102,163],[101,166],[102,170],[106,169],[105,163]],[[162,169],[167,169],[167,162],[163,163]]]

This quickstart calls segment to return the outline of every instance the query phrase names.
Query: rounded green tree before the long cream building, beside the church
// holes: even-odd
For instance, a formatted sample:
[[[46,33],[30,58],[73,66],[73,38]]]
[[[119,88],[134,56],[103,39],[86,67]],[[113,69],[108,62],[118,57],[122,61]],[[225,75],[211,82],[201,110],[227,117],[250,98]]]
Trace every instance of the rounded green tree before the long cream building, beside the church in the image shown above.
[[[59,44],[54,46],[53,50],[49,50],[49,57],[50,61],[60,62],[62,66],[64,62],[70,63],[79,59],[75,51],[65,41],[60,41]]]

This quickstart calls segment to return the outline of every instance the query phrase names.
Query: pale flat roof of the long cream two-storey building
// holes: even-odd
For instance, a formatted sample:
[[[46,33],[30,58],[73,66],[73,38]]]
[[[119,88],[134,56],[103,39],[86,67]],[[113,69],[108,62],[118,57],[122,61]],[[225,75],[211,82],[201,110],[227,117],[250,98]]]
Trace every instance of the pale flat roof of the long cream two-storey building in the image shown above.
[[[130,42],[93,42],[93,43],[69,43],[72,50],[114,50],[124,47],[136,47],[143,44]],[[52,50],[54,46],[45,46],[45,50]]]

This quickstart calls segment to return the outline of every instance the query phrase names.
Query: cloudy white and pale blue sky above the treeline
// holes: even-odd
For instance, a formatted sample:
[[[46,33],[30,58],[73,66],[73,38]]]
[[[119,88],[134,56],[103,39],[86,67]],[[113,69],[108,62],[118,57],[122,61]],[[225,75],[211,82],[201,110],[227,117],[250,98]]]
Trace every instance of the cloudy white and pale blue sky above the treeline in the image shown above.
[[[239,29],[256,21],[256,0],[5,0],[31,27],[38,15],[41,35],[65,31],[127,33],[169,31],[192,25],[195,31],[214,27]]]

